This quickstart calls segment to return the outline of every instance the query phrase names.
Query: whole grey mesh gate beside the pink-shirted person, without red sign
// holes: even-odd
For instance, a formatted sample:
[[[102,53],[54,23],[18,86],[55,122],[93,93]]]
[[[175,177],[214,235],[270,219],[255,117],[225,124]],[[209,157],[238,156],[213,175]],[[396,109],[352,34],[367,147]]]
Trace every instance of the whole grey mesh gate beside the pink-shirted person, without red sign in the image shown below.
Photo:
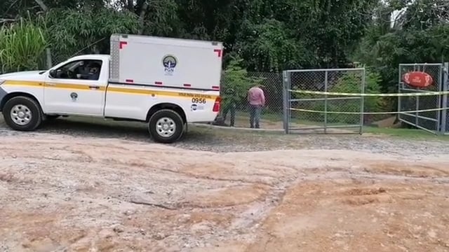
[[[302,92],[304,90],[309,92]],[[361,134],[363,96],[320,92],[363,94],[364,91],[364,68],[283,71],[283,127],[286,134]]]

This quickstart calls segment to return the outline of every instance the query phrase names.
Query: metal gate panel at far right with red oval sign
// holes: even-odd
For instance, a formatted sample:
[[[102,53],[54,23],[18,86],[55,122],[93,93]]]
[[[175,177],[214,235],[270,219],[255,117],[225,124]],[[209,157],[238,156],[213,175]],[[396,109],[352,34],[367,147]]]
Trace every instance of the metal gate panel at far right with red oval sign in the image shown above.
[[[433,78],[434,83],[429,85],[429,87],[424,88],[412,87],[402,80],[402,76],[410,71],[422,71],[428,73]],[[398,92],[417,93],[446,91],[448,87],[447,81],[443,80],[445,78],[443,73],[445,73],[444,66],[439,63],[399,64]],[[445,83],[445,85],[443,85],[443,83]],[[434,134],[445,132],[448,130],[446,125],[446,111],[443,109],[446,106],[447,94],[398,97],[398,120]],[[422,111],[431,109],[434,109],[434,111]]]

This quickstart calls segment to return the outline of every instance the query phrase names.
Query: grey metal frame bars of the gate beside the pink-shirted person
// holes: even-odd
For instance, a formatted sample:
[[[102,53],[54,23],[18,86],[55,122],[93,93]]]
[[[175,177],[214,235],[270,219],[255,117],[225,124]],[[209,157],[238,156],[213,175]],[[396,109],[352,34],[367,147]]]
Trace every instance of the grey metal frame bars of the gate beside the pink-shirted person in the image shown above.
[[[285,70],[282,71],[283,76],[283,128],[284,132],[286,134],[293,133],[292,131],[301,131],[301,130],[323,130],[324,134],[328,134],[328,129],[342,129],[342,128],[351,128],[351,127],[358,127],[358,134],[363,134],[363,119],[364,119],[364,106],[365,106],[365,97],[364,96],[351,96],[351,97],[332,97],[329,98],[328,95],[324,94],[323,98],[309,98],[309,99],[291,99],[291,73],[304,73],[304,72],[324,72],[325,74],[325,80],[324,80],[324,92],[328,92],[328,73],[330,71],[361,71],[361,94],[365,93],[366,88],[366,69],[365,67],[358,67],[358,68],[335,68],[335,69],[293,69],[293,70]],[[328,125],[327,122],[327,110],[328,110],[328,100],[344,100],[344,99],[360,99],[361,100],[361,106],[360,106],[360,120],[358,125]],[[301,102],[301,101],[324,101],[324,120],[323,120],[323,126],[316,126],[316,127],[300,127],[300,128],[290,128],[290,119],[291,119],[291,103],[292,102]],[[357,134],[357,132],[354,133],[331,133],[331,134]]]

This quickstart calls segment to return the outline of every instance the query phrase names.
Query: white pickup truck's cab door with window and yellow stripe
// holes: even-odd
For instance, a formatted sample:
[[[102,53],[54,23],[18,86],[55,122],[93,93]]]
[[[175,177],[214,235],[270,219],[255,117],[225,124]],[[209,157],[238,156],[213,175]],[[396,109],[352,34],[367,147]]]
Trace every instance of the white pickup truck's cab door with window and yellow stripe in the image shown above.
[[[78,59],[52,69],[43,92],[46,113],[102,116],[105,65],[101,59]]]

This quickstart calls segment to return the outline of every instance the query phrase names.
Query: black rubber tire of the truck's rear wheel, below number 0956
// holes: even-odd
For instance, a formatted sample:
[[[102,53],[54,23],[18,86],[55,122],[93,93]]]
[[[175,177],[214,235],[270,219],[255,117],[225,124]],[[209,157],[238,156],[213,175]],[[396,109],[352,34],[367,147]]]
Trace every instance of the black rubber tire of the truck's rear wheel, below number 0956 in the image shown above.
[[[174,125],[174,129],[172,134],[167,133],[166,137],[164,137],[163,133],[159,134],[157,130],[158,121],[166,118],[166,123],[172,123]],[[151,134],[154,141],[162,144],[172,144],[178,139],[182,137],[184,133],[184,122],[182,121],[181,116],[171,109],[161,109],[160,111],[156,111],[151,118],[149,118],[148,122],[148,131]]]

